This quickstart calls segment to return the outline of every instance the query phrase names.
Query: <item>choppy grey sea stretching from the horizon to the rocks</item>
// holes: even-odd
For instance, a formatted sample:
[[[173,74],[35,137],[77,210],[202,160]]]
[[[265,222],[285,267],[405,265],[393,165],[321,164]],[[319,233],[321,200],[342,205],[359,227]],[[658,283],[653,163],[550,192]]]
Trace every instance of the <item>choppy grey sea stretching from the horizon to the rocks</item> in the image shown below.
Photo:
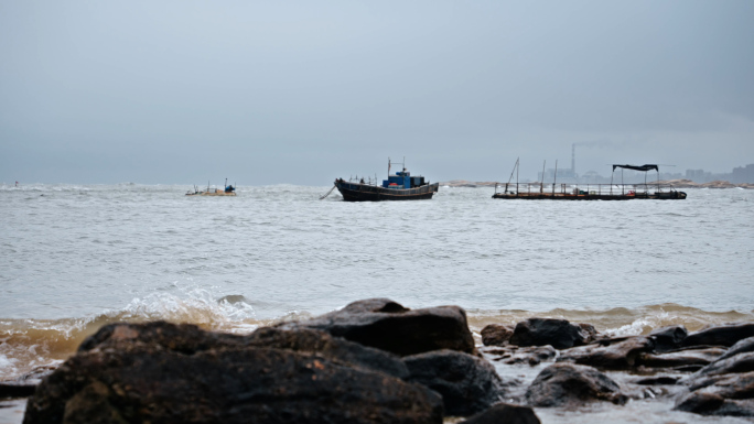
[[[321,200],[328,189],[241,185],[236,197],[201,197],[185,196],[187,184],[0,185],[0,381],[60,365],[108,323],[246,334],[369,297],[462,306],[477,337],[531,316],[616,336],[754,322],[754,191],[530,202],[441,186],[431,200],[346,203],[337,191]],[[537,413],[548,423],[741,422],[666,406]],[[23,404],[6,411],[0,422],[20,422]]]

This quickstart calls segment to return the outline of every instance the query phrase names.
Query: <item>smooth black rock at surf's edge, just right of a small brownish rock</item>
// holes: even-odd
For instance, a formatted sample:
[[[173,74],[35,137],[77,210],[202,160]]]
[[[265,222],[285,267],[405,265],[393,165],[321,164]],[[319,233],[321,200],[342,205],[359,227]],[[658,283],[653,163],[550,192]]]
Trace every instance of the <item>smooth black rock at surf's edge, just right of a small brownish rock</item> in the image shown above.
[[[529,318],[516,324],[509,343],[517,346],[550,345],[556,349],[568,349],[585,345],[591,338],[589,329],[566,319]]]

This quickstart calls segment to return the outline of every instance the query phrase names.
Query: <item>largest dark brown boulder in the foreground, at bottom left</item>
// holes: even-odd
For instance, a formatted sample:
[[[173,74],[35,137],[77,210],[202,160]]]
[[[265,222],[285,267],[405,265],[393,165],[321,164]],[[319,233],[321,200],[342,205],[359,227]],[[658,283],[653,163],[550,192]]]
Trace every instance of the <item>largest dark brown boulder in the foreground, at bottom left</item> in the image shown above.
[[[186,354],[132,343],[66,360],[37,387],[24,416],[25,424],[132,422],[439,424],[442,398],[317,354],[260,347]]]

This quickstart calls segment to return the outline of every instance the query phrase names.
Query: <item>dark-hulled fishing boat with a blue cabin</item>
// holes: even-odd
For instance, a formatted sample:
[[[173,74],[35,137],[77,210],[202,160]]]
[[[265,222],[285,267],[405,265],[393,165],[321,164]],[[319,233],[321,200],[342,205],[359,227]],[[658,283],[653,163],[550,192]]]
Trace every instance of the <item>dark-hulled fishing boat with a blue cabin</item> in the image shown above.
[[[411,176],[405,164],[401,171],[390,175],[390,166],[388,159],[388,178],[383,180],[379,185],[377,177],[367,181],[363,177],[355,181],[337,178],[333,188],[320,199],[327,197],[335,188],[341,192],[345,202],[423,200],[431,199],[438,193],[440,183],[430,184],[423,176]]]

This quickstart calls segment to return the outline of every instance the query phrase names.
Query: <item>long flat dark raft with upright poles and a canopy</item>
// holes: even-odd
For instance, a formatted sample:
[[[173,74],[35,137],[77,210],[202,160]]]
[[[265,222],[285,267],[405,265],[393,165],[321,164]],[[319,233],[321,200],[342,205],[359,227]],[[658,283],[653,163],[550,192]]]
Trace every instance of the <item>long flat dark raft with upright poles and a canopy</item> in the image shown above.
[[[654,199],[654,200],[683,200],[687,197],[685,192],[679,192],[669,185],[660,185],[659,183],[659,166],[655,164],[646,165],[613,165],[613,174],[610,178],[610,184],[560,184],[556,181],[552,185],[545,184],[545,173],[542,172],[542,180],[538,183],[519,183],[518,182],[518,160],[510,173],[508,182],[503,184],[495,184],[495,194],[493,198],[500,199],[525,199],[525,200],[635,200],[635,199]],[[615,170],[621,170],[621,184],[614,184],[613,177]],[[623,170],[634,170],[644,172],[644,183],[638,184],[623,184]],[[647,183],[647,172],[657,172],[657,182]],[[516,183],[511,183],[513,174],[516,173]],[[558,175],[556,165],[556,178]],[[503,192],[498,192],[498,187]]]

